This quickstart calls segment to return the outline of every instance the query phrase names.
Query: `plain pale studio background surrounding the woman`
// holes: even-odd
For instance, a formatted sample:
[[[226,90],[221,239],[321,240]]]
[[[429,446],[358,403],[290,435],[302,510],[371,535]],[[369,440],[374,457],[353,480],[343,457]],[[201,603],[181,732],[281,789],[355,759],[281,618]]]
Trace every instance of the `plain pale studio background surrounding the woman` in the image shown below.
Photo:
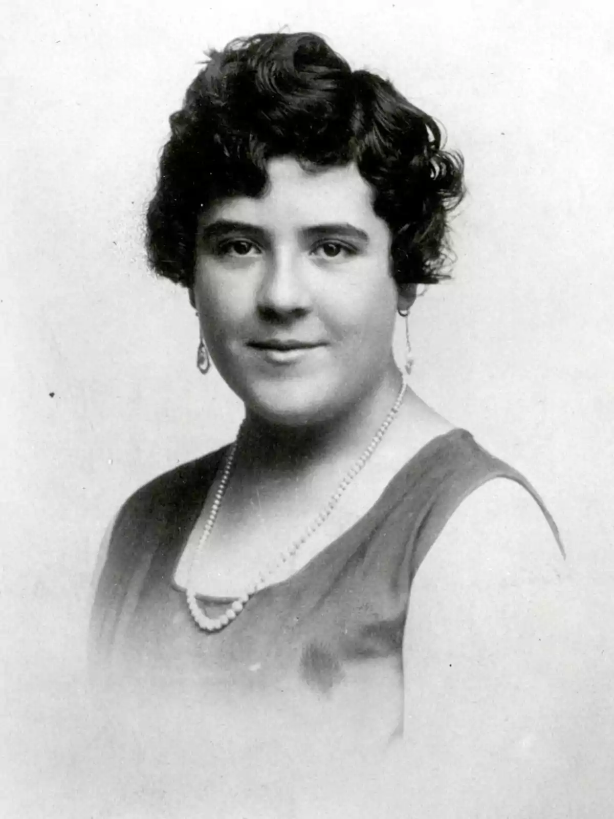
[[[606,4],[24,0],[3,15],[0,645],[13,717],[3,753],[27,753],[27,726],[70,699],[97,545],[120,503],[230,440],[241,419],[217,374],[196,371],[196,317],[186,292],[147,271],[142,217],[168,115],[204,50],[284,25],[318,31],[354,67],[390,76],[465,156],[454,280],[412,313],[413,386],[520,468],[558,521],[577,587],[570,676],[581,719],[607,737]],[[598,752],[607,760],[612,749]]]

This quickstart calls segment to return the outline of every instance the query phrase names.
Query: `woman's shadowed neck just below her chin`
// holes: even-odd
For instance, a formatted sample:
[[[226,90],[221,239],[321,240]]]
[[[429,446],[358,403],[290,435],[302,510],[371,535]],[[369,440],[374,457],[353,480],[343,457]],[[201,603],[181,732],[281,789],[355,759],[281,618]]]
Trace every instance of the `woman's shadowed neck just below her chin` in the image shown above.
[[[358,457],[386,419],[401,387],[402,377],[395,369],[350,410],[300,426],[274,423],[248,409],[237,460],[242,469],[264,475],[297,473],[323,461]]]

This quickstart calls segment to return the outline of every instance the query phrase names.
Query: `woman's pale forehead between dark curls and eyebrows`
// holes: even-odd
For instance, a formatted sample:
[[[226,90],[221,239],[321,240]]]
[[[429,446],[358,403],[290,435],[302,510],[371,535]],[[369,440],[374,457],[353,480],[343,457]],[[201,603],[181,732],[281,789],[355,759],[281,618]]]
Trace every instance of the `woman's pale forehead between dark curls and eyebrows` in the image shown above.
[[[262,196],[222,199],[205,215],[205,224],[233,219],[282,230],[347,222],[369,233],[386,230],[372,208],[372,188],[354,164],[311,171],[284,156],[271,160],[267,171]]]

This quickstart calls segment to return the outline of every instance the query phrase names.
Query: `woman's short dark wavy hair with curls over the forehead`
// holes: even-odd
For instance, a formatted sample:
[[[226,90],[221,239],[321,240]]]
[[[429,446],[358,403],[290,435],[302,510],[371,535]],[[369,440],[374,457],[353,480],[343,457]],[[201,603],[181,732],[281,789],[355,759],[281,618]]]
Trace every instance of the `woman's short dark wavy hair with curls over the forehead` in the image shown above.
[[[391,231],[403,290],[448,278],[448,214],[463,197],[463,157],[440,127],[386,79],[352,71],[316,34],[256,34],[228,43],[170,116],[147,210],[151,268],[191,287],[199,215],[221,198],[258,197],[267,162],[306,169],[355,162]]]

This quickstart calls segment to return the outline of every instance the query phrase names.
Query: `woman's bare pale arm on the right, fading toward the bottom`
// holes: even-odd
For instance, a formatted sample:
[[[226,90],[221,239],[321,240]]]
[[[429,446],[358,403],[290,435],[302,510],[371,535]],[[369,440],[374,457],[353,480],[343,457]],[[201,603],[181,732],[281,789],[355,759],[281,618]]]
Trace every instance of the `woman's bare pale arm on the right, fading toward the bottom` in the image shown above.
[[[540,506],[505,478],[463,501],[419,568],[404,635],[404,731],[414,764],[423,766],[424,747],[438,760],[422,770],[429,793],[447,788],[452,800],[433,806],[438,816],[456,816],[454,787],[472,806],[467,816],[505,804],[510,817],[544,815],[542,799],[562,787],[566,574]],[[454,787],[445,771],[455,771]]]

